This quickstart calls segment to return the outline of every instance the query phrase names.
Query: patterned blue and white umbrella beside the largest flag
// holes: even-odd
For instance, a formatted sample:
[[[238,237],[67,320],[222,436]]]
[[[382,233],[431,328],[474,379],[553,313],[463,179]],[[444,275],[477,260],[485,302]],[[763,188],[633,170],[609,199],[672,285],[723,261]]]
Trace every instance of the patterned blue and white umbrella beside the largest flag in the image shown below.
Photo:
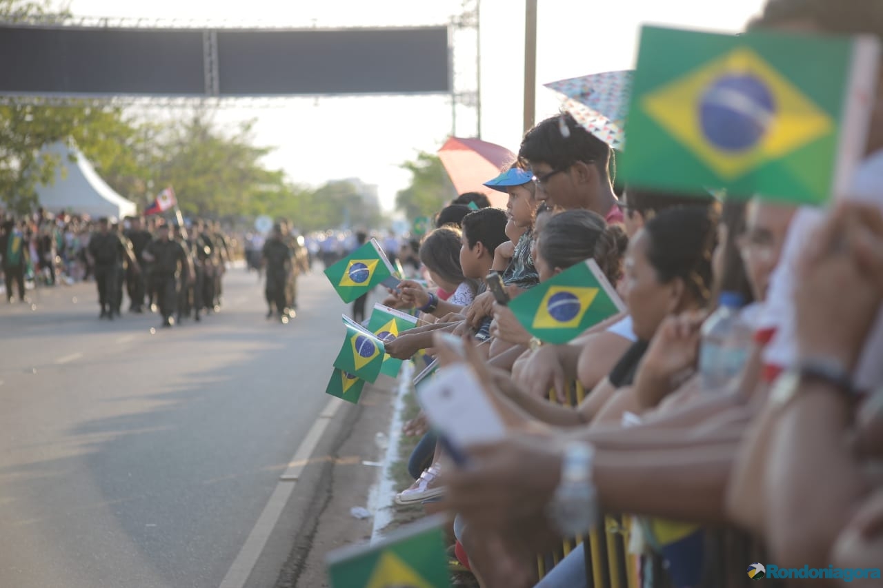
[[[564,97],[564,109],[586,131],[615,149],[625,142],[633,70],[592,73],[561,79],[545,86]]]

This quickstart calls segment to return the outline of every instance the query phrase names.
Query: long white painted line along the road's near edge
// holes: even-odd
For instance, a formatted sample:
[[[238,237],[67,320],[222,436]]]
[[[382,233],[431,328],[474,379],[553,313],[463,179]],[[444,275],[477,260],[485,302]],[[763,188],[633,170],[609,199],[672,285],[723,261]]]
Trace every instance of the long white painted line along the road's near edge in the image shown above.
[[[254,524],[248,539],[245,539],[245,545],[242,546],[236,559],[233,560],[233,564],[230,565],[227,575],[224,576],[218,588],[243,588],[245,586],[248,577],[252,574],[254,564],[258,562],[260,553],[267,545],[270,533],[273,532],[276,522],[282,516],[285,504],[291,498],[291,493],[294,492],[294,486],[298,484],[297,477],[300,475],[300,471],[303,470],[306,461],[313,454],[313,449],[316,449],[316,445],[321,440],[322,433],[325,433],[331,418],[334,418],[342,404],[343,401],[339,398],[331,398],[328,404],[325,405],[325,409],[321,411],[319,417],[313,422],[313,426],[306,433],[304,441],[300,442],[298,450],[291,457],[289,461],[290,466],[283,474],[283,479],[276,484],[275,490],[267,502],[267,506],[260,513],[258,522]],[[294,477],[288,478],[290,475]]]

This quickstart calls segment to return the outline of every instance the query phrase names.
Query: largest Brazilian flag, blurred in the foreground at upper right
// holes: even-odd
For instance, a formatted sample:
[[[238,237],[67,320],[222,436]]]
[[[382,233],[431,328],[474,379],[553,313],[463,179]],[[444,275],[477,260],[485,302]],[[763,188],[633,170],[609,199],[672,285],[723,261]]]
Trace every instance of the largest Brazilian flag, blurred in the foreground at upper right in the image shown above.
[[[819,204],[864,150],[876,41],[645,26],[626,182]]]

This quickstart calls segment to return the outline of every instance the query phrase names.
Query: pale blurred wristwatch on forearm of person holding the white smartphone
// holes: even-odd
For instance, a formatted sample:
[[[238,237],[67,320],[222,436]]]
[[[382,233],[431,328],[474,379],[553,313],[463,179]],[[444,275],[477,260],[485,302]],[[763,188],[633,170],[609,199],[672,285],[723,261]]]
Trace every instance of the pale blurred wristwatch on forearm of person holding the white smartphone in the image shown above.
[[[598,493],[592,484],[594,449],[573,442],[564,449],[561,481],[548,505],[548,516],[563,537],[589,531],[598,521]]]

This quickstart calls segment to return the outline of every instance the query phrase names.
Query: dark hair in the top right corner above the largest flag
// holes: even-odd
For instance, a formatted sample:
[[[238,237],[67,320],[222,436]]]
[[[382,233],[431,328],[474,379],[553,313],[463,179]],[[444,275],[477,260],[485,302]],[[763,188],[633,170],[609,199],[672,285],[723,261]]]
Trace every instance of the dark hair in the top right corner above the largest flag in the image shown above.
[[[763,14],[748,28],[770,28],[808,20],[820,30],[883,37],[883,4],[879,0],[769,0]]]

